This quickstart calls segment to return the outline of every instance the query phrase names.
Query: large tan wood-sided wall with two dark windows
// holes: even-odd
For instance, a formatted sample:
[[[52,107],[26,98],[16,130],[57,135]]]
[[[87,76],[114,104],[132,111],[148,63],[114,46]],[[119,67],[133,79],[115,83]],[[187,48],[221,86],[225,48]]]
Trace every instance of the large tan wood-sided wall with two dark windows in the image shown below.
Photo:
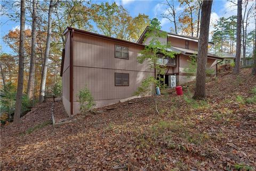
[[[115,58],[115,45],[129,47],[129,59]],[[141,46],[75,32],[73,48],[74,114],[79,113],[77,93],[85,86],[101,107],[133,96],[142,80],[154,75],[148,63],[137,62]],[[129,73],[129,86],[115,86],[115,72]]]

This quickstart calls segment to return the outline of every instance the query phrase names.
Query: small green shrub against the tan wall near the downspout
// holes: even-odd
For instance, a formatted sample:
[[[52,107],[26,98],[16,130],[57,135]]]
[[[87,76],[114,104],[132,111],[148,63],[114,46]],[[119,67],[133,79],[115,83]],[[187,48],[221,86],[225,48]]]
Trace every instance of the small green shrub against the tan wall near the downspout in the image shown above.
[[[81,113],[86,113],[95,105],[91,92],[86,86],[79,90],[77,96]]]

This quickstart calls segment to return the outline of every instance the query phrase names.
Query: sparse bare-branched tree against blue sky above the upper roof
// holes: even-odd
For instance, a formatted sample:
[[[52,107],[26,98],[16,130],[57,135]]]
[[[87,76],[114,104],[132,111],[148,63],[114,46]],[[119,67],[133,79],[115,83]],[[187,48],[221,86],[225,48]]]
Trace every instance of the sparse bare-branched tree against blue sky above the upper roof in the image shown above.
[[[175,7],[174,7],[174,1],[172,0],[172,2],[170,3],[168,0],[166,0],[166,3],[164,4],[167,5],[167,9],[164,13],[161,14],[161,17],[168,19],[171,23],[174,24],[175,34],[178,35],[177,19],[176,19],[177,11],[175,10]]]

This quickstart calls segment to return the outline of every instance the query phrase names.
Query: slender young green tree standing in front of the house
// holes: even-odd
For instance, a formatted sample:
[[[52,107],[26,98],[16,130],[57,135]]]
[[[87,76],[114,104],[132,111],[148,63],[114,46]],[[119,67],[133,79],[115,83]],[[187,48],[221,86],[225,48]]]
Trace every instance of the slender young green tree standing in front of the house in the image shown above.
[[[158,108],[157,108],[157,99],[156,99],[156,86],[161,86],[161,80],[158,78],[157,75],[163,74],[163,70],[164,70],[164,68],[157,63],[159,54],[163,54],[163,56],[165,57],[174,58],[174,55],[177,53],[166,51],[165,49],[170,47],[170,45],[162,44],[162,42],[159,41],[159,38],[166,38],[167,33],[159,30],[159,28],[161,28],[161,25],[156,18],[151,20],[150,26],[151,27],[149,27],[149,30],[145,34],[146,35],[145,40],[147,38],[150,38],[150,41],[145,46],[145,49],[141,50],[140,52],[141,55],[138,56],[137,59],[138,59],[138,62],[141,64],[145,61],[148,61],[150,68],[154,69],[155,71],[154,79],[149,79],[149,80],[153,80],[154,91],[155,91],[155,98],[154,98],[155,107],[156,107],[156,112],[159,114]]]

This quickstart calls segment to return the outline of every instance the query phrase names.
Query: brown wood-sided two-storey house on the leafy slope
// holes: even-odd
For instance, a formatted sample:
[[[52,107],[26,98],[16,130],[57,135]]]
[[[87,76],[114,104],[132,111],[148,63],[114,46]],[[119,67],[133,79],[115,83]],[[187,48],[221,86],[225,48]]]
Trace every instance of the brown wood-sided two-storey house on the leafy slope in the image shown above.
[[[133,93],[148,76],[154,75],[147,62],[140,64],[137,57],[145,48],[145,33],[137,43],[99,35],[96,33],[68,27],[64,32],[65,49],[62,50],[62,102],[69,115],[79,113],[77,93],[87,86],[94,98],[96,107],[118,102],[133,96]],[[169,50],[179,52],[174,59],[162,56],[163,67],[167,75],[177,75],[182,84],[195,78],[185,73],[189,65],[189,56],[196,54],[198,39],[168,34],[164,42],[171,41]],[[161,59],[161,58],[160,58]],[[208,54],[207,67],[217,74],[217,59]],[[191,76],[188,79],[187,75]]]

